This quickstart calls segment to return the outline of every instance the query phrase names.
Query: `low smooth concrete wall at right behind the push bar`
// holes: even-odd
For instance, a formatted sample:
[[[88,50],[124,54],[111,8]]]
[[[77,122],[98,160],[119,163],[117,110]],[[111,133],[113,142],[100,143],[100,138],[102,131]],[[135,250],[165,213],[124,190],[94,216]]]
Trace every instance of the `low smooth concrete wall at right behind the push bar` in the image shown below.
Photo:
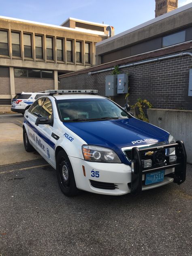
[[[147,109],[149,123],[173,135],[175,140],[184,142],[187,162],[192,164],[192,111],[171,109]]]

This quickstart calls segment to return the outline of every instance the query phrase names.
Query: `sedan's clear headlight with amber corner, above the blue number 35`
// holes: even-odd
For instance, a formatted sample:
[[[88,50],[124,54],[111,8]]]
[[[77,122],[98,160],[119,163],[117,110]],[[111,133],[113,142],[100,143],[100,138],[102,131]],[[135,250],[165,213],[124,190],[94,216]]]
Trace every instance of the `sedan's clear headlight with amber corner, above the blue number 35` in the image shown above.
[[[117,154],[105,147],[97,147],[91,145],[82,146],[83,157],[86,161],[104,162],[104,163],[121,163]]]

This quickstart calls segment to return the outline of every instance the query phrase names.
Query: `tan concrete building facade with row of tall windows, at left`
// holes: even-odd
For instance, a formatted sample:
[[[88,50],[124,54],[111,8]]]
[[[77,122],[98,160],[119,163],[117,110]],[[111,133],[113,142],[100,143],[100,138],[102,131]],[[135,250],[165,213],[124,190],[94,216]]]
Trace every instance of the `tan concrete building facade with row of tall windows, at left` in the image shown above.
[[[10,102],[9,99],[17,92],[58,88],[58,73],[64,74],[94,65],[96,43],[108,38],[105,32],[78,30],[6,17],[0,17],[0,33],[0,104]],[[69,42],[71,49],[67,47]],[[11,70],[10,77],[4,78],[2,75],[4,67]],[[15,68],[51,71],[54,80],[18,78],[14,75]]]

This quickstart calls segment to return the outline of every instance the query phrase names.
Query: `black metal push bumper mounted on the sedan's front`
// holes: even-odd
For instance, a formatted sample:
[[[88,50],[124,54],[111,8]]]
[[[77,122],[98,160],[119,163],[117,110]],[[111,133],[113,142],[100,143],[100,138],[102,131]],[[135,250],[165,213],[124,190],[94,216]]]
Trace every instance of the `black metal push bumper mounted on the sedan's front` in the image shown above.
[[[169,149],[175,147],[176,161],[174,163],[169,163],[169,156],[165,156],[165,161],[159,165],[159,167],[152,168],[143,168],[143,163],[141,159],[141,153],[145,154],[149,151],[158,151],[162,149]],[[156,171],[162,171],[170,168],[175,168],[175,173],[166,177],[166,180],[180,185],[186,179],[186,163],[187,155],[183,141],[176,141],[175,144],[163,145],[161,147],[148,147],[147,149],[139,149],[138,147],[132,148],[132,168],[131,168],[131,183],[130,183],[130,192],[131,194],[140,194],[143,190],[143,175],[147,173],[153,173]],[[164,180],[164,181],[166,181]],[[162,182],[160,182],[162,183]],[[160,185],[160,183],[157,183]],[[169,183],[169,182],[167,182]],[[164,185],[164,184],[162,184]],[[161,186],[161,185],[160,185]]]

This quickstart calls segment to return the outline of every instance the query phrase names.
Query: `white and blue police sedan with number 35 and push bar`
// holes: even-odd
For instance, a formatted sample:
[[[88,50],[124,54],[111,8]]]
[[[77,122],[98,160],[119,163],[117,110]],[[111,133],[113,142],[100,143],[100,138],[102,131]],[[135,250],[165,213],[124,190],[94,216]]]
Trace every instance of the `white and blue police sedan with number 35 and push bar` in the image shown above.
[[[185,147],[169,132],[94,95],[96,90],[47,93],[25,111],[23,142],[53,166],[65,195],[139,194],[185,181]]]

